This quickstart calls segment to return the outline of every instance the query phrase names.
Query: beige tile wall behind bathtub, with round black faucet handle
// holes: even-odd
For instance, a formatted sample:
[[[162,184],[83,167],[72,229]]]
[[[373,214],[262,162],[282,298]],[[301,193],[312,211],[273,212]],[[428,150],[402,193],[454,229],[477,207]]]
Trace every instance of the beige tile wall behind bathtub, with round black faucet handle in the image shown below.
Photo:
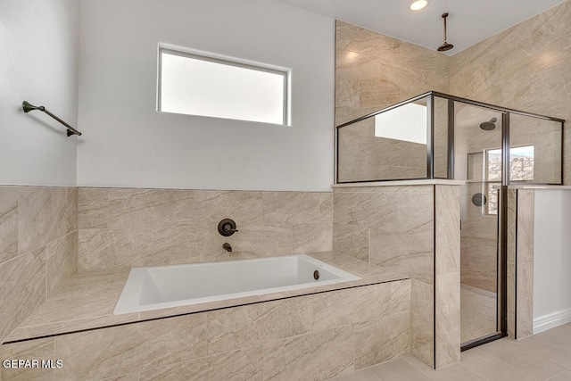
[[[78,219],[80,270],[317,253],[332,250],[333,194],[82,187]]]

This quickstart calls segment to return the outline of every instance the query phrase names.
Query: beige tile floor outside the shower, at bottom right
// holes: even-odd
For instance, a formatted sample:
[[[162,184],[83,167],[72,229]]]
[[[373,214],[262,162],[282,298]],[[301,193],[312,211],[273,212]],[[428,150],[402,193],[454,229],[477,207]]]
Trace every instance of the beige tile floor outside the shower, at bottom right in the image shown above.
[[[515,341],[462,352],[459,364],[433,370],[412,356],[360,369],[335,381],[571,381],[571,323]]]

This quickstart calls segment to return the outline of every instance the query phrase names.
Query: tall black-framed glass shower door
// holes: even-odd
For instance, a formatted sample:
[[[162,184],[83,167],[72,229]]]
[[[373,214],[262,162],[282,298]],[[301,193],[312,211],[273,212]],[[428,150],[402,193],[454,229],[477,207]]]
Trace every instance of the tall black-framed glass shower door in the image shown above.
[[[455,103],[454,172],[460,189],[460,336],[463,344],[498,327],[498,205],[501,112]]]

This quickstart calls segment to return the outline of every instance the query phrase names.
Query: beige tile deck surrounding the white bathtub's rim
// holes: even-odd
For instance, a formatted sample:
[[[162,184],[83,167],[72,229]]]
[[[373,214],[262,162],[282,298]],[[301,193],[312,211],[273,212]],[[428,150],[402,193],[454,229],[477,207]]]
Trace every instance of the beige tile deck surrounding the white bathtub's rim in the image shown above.
[[[310,255],[319,261],[324,261],[361,278],[335,285],[316,286],[282,293],[255,295],[156,311],[113,315],[112,311],[127,280],[128,270],[80,271],[70,277],[65,285],[56,293],[50,295],[44,304],[30,314],[28,319],[25,319],[19,327],[16,327],[4,339],[4,343],[203,311],[217,311],[230,307],[271,302],[295,296],[327,293],[345,288],[369,286],[410,278],[400,274],[387,274],[383,269],[370,263],[351,257],[335,256],[331,252],[313,253]],[[403,287],[402,290],[406,290],[407,286],[403,285]],[[401,294],[398,290],[399,287],[393,290],[393,293],[396,293],[395,297],[397,294]],[[396,302],[396,299],[393,302]],[[401,305],[401,308],[407,309],[406,305]],[[311,329],[310,327],[309,331]]]

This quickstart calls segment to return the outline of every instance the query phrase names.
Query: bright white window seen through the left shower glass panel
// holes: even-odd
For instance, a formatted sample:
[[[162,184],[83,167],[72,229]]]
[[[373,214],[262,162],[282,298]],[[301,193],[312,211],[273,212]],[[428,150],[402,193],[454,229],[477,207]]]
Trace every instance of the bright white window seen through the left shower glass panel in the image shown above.
[[[426,106],[403,104],[376,115],[375,136],[426,145]]]

